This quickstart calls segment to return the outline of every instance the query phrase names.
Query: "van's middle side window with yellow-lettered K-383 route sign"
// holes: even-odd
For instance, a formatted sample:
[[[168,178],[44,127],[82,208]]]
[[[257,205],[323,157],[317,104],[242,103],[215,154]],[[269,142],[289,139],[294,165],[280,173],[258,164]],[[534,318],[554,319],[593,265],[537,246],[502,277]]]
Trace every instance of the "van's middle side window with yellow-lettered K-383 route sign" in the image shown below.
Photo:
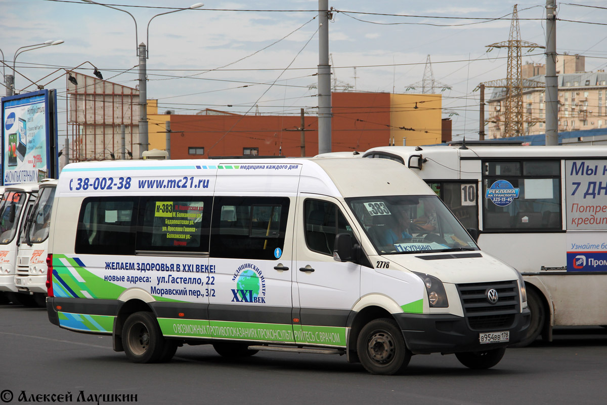
[[[138,251],[208,252],[211,197],[143,197]]]

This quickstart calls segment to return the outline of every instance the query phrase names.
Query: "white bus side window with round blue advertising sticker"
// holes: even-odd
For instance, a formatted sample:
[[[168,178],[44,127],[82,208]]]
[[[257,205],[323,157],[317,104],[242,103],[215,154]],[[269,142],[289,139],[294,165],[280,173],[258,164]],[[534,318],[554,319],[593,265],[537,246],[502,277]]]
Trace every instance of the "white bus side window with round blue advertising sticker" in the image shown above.
[[[561,230],[560,162],[484,162],[485,231]]]

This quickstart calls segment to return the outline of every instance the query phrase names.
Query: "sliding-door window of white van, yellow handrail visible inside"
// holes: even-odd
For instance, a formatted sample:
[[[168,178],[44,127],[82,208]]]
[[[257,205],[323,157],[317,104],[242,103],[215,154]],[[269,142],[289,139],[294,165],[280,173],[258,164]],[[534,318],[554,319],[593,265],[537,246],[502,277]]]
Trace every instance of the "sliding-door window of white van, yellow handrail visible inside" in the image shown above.
[[[215,197],[211,257],[276,260],[283,250],[287,197]]]

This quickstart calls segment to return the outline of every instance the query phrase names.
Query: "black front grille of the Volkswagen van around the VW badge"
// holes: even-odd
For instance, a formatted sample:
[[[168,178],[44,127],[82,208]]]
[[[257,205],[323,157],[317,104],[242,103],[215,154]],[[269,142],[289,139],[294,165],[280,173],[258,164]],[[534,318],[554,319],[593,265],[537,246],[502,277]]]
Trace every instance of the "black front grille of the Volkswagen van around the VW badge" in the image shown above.
[[[495,304],[487,299],[490,288],[498,293]],[[472,329],[507,328],[514,322],[514,314],[520,312],[516,280],[458,284],[457,289],[464,316]]]

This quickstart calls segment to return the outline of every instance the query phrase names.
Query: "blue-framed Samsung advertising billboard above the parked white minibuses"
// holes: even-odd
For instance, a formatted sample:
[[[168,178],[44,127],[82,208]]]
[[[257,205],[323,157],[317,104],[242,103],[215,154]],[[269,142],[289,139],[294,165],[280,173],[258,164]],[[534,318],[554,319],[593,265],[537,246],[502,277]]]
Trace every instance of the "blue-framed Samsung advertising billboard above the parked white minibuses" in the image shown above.
[[[2,184],[56,177],[55,90],[2,98]]]

